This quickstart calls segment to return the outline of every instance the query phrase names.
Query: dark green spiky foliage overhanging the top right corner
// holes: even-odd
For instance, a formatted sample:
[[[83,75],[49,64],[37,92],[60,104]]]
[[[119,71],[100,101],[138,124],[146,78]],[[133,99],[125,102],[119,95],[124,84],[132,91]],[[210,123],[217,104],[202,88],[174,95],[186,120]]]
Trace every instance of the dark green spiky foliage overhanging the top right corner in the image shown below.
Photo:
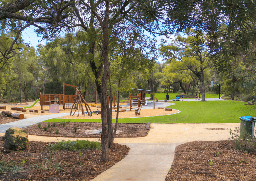
[[[256,2],[250,0],[167,0],[164,21],[171,32],[191,28],[208,36],[212,60],[220,72],[240,62],[255,61]],[[233,58],[231,58],[233,57]]]

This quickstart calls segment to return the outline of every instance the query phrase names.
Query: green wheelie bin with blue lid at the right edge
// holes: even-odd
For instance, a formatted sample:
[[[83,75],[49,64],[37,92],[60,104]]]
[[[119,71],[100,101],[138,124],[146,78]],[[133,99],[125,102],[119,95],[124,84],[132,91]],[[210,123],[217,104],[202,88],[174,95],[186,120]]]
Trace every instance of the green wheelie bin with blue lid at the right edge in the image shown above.
[[[240,124],[240,136],[244,137],[246,133],[254,135],[252,131],[252,122],[255,125],[255,120],[251,121],[251,116],[242,116],[239,119],[241,120]]]

